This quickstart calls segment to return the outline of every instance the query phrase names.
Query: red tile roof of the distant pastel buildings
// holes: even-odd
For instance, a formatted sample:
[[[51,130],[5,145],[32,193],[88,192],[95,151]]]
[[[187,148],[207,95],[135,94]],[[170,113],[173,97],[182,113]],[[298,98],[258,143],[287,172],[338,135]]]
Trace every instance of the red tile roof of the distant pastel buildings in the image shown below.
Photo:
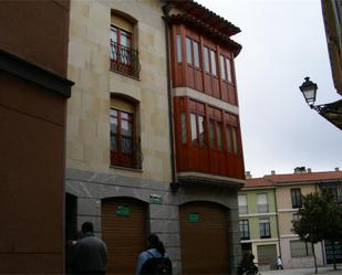
[[[342,171],[266,174],[262,178],[247,179],[243,188],[276,187],[279,184],[293,183],[315,183],[331,180],[342,182]]]

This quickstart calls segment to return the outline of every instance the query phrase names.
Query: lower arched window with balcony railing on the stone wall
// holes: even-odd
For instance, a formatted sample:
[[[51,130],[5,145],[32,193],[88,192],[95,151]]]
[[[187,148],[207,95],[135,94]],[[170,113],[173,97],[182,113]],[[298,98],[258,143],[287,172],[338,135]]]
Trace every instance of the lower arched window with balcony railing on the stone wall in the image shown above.
[[[111,165],[141,169],[143,158],[135,135],[135,106],[117,98],[112,98],[111,105]]]

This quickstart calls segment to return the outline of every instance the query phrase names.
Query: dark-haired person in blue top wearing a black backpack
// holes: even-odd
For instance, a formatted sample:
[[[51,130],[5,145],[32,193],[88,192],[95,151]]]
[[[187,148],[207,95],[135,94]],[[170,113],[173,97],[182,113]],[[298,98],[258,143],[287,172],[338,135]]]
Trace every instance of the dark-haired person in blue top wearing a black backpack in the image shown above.
[[[136,275],[170,275],[173,265],[165,252],[163,242],[156,234],[148,236],[147,250],[138,256]]]

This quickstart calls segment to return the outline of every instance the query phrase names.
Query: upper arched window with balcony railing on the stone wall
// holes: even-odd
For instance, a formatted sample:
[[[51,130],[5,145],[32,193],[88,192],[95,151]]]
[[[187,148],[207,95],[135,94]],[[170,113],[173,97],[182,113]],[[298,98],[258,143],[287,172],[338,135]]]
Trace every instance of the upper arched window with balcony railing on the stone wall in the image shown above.
[[[133,47],[134,23],[121,15],[112,15],[111,70],[138,77],[138,53]]]

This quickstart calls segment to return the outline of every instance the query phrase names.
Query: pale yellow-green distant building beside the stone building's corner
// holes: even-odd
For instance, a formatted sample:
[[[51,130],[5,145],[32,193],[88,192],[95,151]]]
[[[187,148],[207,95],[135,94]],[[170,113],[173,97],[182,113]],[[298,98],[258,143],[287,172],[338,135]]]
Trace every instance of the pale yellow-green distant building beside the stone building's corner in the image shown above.
[[[276,268],[280,247],[273,183],[248,179],[238,199],[242,253],[252,253],[261,268]]]

